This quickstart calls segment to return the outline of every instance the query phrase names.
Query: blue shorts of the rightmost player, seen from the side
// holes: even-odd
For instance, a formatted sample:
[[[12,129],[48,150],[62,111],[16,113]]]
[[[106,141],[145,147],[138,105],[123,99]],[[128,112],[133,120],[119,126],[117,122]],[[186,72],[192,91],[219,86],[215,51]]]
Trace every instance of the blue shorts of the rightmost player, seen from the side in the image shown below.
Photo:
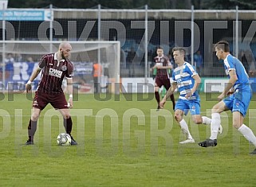
[[[237,89],[233,95],[226,97],[223,101],[230,111],[239,111],[242,116],[246,116],[246,111],[249,107],[251,99],[250,89]]]

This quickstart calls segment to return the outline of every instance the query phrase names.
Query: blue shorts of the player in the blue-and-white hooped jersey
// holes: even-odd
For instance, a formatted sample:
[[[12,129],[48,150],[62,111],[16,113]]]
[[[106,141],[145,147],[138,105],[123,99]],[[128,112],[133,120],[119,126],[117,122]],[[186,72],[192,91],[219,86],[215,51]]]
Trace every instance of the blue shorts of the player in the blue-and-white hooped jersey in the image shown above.
[[[198,99],[179,99],[175,104],[175,110],[177,109],[183,111],[185,115],[188,111],[191,111],[191,115],[200,115],[200,101]]]

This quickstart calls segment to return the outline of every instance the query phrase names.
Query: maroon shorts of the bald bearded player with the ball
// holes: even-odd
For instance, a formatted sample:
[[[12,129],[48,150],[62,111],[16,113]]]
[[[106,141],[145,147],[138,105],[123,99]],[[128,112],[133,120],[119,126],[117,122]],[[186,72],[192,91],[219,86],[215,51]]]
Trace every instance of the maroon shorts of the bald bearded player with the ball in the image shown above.
[[[43,110],[50,103],[55,109],[69,108],[64,93],[47,94],[36,92],[33,98],[33,107]]]

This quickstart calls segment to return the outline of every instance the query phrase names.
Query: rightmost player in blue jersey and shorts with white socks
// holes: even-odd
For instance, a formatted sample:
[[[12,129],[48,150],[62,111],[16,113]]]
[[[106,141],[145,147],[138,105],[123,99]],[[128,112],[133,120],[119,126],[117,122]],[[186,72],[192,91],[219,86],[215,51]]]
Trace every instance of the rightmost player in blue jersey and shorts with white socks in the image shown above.
[[[221,122],[220,113],[230,110],[233,115],[234,128],[256,147],[256,137],[253,131],[243,123],[251,99],[249,76],[242,62],[230,54],[230,46],[227,41],[219,41],[215,45],[215,52],[218,59],[224,62],[229,82],[221,95],[218,96],[219,103],[211,109],[211,137],[206,141],[199,142],[199,146],[217,146],[217,131]],[[223,99],[226,95],[229,96]],[[250,154],[256,154],[256,149]]]

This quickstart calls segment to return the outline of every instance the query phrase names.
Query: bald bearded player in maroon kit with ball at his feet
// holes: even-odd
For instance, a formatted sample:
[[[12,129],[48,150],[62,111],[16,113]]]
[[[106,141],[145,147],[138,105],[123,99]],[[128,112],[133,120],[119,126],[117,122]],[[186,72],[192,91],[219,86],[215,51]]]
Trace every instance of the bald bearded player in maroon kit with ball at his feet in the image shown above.
[[[62,42],[57,53],[42,56],[38,64],[39,67],[34,70],[26,84],[26,92],[29,92],[33,80],[41,72],[41,80],[33,98],[32,115],[28,126],[29,139],[26,145],[33,145],[33,136],[37,130],[37,119],[48,103],[61,112],[65,131],[71,136],[73,127],[69,114],[69,107],[73,107],[73,64],[69,61],[71,50],[72,46],[68,42]],[[67,78],[69,103],[67,103],[61,88],[64,77]],[[77,145],[72,136],[71,138],[71,145]]]

